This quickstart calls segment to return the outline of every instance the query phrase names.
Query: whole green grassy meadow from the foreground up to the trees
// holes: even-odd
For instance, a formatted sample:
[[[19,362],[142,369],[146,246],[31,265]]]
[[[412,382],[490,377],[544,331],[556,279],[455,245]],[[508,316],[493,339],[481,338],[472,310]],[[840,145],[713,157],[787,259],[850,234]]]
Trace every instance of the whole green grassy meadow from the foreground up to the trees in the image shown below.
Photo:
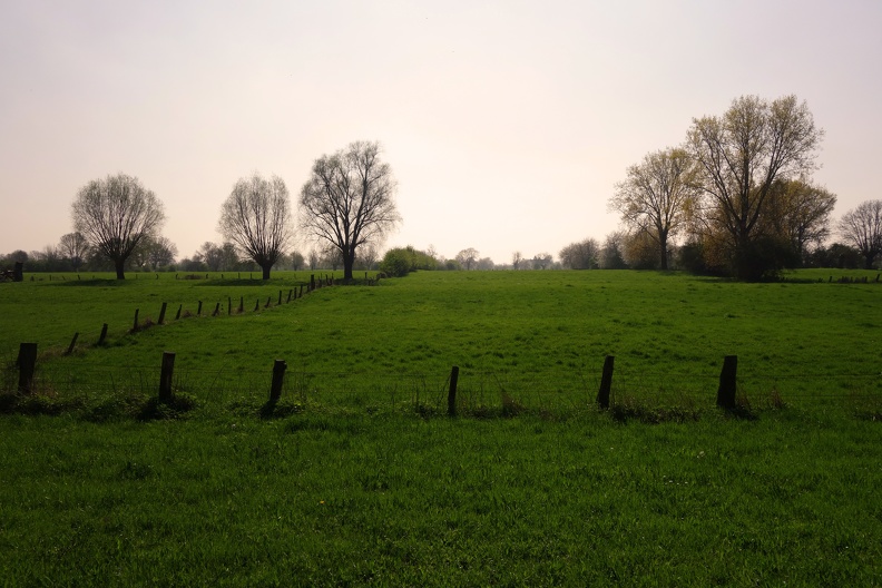
[[[849,275],[0,284],[0,584],[880,585],[882,284]],[[164,351],[187,402],[148,411]]]

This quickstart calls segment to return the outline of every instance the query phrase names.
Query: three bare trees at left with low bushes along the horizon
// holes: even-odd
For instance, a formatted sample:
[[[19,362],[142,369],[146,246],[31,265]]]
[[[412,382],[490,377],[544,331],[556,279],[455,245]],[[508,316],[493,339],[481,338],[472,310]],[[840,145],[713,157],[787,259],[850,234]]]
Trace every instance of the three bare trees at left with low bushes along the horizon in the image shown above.
[[[182,266],[233,270],[253,264],[266,280],[280,263],[314,267],[321,258],[334,268],[339,264],[344,280],[352,280],[356,258],[375,258],[376,246],[401,220],[395,190],[379,143],[355,141],[316,159],[301,188],[296,218],[285,182],[254,173],[239,178],[220,206],[218,231],[226,241],[206,243]],[[3,261],[50,271],[111,266],[124,280],[127,268],[156,270],[170,265],[177,255],[176,247],[159,235],[165,222],[161,200],[137,177],[117,174],[90,180],[74,198],[71,219],[74,232],[58,246],[31,256],[13,252]],[[295,225],[316,244],[308,261],[290,252]]]

